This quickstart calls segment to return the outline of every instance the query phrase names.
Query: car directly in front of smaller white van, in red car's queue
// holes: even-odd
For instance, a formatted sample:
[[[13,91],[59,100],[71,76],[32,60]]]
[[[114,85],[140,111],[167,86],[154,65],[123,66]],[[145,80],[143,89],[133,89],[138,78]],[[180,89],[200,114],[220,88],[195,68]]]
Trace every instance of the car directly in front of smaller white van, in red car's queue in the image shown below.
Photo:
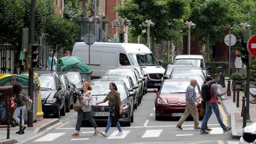
[[[170,77],[177,74],[200,74],[205,78],[205,74],[200,67],[174,67]]]

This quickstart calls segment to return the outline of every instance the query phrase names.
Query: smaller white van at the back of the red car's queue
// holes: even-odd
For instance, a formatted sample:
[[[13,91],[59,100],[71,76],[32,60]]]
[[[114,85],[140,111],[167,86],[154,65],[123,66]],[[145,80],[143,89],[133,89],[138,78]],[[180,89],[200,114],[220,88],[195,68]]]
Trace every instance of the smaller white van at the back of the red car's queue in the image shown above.
[[[207,68],[205,67],[205,60],[202,55],[177,55],[174,59],[174,64],[188,64],[190,66],[201,67],[203,73],[207,76]]]

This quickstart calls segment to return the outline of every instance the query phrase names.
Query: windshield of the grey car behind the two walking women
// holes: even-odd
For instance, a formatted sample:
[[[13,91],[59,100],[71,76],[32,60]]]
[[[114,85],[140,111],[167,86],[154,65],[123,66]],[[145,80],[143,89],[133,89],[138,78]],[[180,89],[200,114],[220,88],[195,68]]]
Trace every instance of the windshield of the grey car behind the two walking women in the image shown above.
[[[109,83],[91,83],[92,85],[92,95],[105,96],[109,93]],[[120,93],[121,100],[127,98],[126,89],[124,85],[116,83],[118,92]]]

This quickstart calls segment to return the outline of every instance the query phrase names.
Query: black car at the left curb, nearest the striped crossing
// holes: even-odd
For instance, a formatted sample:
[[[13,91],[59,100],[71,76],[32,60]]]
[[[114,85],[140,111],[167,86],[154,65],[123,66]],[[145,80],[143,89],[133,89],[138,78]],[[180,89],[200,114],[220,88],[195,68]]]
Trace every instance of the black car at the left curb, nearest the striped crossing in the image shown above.
[[[38,73],[41,85],[41,103],[45,115],[60,118],[66,114],[65,89],[56,72]]]

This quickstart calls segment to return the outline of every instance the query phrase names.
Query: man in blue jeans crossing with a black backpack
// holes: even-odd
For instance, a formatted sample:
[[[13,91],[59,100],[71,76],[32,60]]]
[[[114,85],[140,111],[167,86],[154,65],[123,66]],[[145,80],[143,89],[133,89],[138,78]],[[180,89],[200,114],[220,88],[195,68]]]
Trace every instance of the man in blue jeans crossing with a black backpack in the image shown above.
[[[213,84],[211,84],[211,88],[210,88],[212,97],[210,100],[206,101],[206,103],[205,103],[206,111],[205,111],[205,116],[203,117],[203,122],[201,125],[202,126],[202,128],[200,130],[201,134],[208,133],[205,126],[210,117],[211,109],[213,109],[213,111],[215,112],[218,122],[219,122],[221,128],[224,130],[224,132],[228,132],[229,130],[231,130],[231,127],[226,127],[226,125],[223,124],[223,121],[220,116],[220,109],[218,106],[218,104],[220,104],[220,102],[218,101],[218,97],[225,95],[226,91],[223,93],[220,90],[218,90],[218,85],[216,83],[218,83],[219,81],[220,81],[220,75],[214,74],[213,80],[210,80],[207,82],[207,83],[213,83]]]

